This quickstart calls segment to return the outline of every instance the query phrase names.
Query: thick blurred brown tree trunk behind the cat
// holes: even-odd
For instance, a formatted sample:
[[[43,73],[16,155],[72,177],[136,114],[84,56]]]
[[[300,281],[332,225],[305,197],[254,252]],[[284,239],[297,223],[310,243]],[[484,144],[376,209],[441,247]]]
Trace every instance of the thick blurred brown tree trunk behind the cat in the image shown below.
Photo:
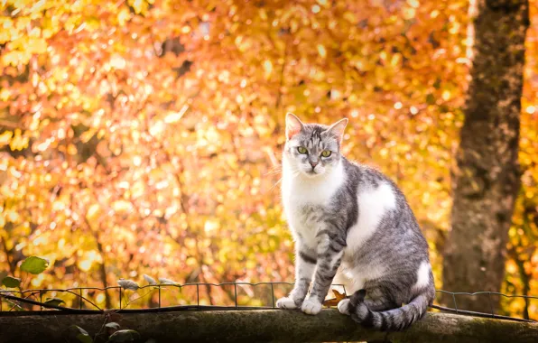
[[[469,17],[471,79],[453,177],[452,229],[442,287],[451,292],[498,292],[520,185],[517,153],[529,3],[475,0]],[[443,301],[452,304],[451,297]],[[492,306],[497,308],[497,297]],[[459,297],[458,307],[491,311],[487,295]]]

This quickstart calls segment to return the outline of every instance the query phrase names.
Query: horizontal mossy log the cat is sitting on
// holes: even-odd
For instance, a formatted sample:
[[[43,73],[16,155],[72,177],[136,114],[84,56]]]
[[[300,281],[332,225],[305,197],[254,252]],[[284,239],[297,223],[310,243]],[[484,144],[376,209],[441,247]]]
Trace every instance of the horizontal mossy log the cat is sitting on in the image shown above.
[[[51,311],[48,311],[51,312]],[[0,314],[0,342],[78,342],[72,325],[94,337],[103,332],[102,314]],[[237,310],[114,314],[121,329],[135,329],[141,342],[520,342],[538,341],[538,323],[429,312],[404,332],[365,329],[334,309],[317,316],[300,311]],[[104,339],[101,339],[103,341]],[[98,339],[97,339],[98,341]]]

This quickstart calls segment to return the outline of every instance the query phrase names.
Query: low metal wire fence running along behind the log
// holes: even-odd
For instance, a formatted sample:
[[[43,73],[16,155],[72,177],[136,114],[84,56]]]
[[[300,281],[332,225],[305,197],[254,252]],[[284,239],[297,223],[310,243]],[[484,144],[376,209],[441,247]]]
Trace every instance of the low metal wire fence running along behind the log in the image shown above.
[[[0,315],[16,315],[17,312],[32,311],[41,314],[58,314],[59,311],[66,313],[103,313],[105,311],[116,312],[157,312],[157,311],[214,311],[214,310],[266,310],[276,308],[276,299],[287,294],[292,289],[293,283],[266,282],[266,283],[161,283],[149,284],[135,290],[125,289],[121,286],[98,287],[73,287],[67,289],[32,289],[24,291],[0,290]],[[222,296],[215,296],[211,291],[217,288]],[[260,288],[264,288],[262,292]],[[333,284],[333,290],[337,290],[340,296],[349,296],[346,288],[341,284]],[[257,290],[256,290],[257,289]],[[178,293],[179,291],[179,293]],[[111,309],[98,306],[95,298],[98,292],[104,293]],[[175,293],[173,293],[175,292]],[[521,317],[501,315],[495,311],[495,302],[500,298],[510,300],[522,300],[527,306],[534,301],[538,304],[538,296],[508,295],[500,292],[448,292],[437,290],[438,294],[446,293],[452,298],[452,304],[445,307],[433,304],[436,311],[447,311],[462,315],[496,318],[502,320],[530,321]],[[172,293],[172,294],[171,294]],[[257,296],[256,296],[257,293]],[[261,293],[261,295],[260,295]],[[336,293],[335,293],[336,294]],[[49,297],[51,295],[51,297]],[[166,295],[166,296],[165,296]],[[222,294],[221,294],[222,295]],[[460,297],[487,297],[490,304],[489,312],[467,311],[458,306]],[[92,298],[92,299],[89,299]],[[167,301],[164,301],[164,299]],[[496,298],[496,299],[494,299]],[[172,299],[172,304],[171,304]],[[141,305],[140,300],[147,301]],[[178,301],[179,300],[179,301]],[[61,304],[71,302],[70,307]],[[114,303],[113,303],[114,301]],[[138,303],[137,303],[138,301]],[[97,303],[96,303],[97,302]],[[178,302],[180,303],[178,305]]]

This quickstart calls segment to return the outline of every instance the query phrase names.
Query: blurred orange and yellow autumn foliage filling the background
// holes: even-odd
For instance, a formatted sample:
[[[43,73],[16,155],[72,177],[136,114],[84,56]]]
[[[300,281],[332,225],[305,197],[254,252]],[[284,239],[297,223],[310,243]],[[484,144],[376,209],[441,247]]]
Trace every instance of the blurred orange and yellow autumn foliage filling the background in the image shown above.
[[[467,1],[1,6],[0,270],[24,280],[25,257],[51,264],[24,287],[102,287],[143,274],[291,282],[278,181],[292,111],[307,122],[350,119],[345,153],[404,190],[441,288]],[[508,293],[538,293],[537,8],[531,0]],[[86,295],[103,307],[114,300]],[[504,305],[524,311],[524,301]],[[538,304],[528,311],[536,317]]]

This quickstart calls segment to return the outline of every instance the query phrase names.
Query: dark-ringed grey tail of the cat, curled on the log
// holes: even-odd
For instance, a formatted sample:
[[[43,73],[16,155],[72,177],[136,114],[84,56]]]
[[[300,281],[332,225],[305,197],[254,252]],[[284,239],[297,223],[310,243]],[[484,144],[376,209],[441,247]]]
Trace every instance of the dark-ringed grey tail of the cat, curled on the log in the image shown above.
[[[432,294],[433,295],[432,295]],[[407,329],[416,320],[420,320],[433,301],[435,291],[425,289],[408,304],[394,310],[370,311],[364,302],[365,290],[355,292],[349,300],[351,318],[365,327],[383,331],[398,331]]]

